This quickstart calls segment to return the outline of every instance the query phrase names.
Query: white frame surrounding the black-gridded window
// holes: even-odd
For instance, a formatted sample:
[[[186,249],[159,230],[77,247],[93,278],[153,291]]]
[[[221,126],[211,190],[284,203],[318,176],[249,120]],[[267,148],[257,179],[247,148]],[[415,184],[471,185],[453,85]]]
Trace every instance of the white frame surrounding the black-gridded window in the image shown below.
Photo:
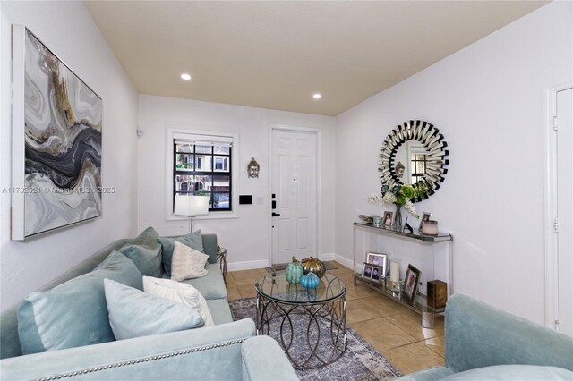
[[[235,132],[227,132],[227,131],[199,131],[194,130],[192,127],[189,128],[182,128],[169,126],[166,127],[166,137],[165,137],[165,157],[166,157],[166,165],[165,165],[165,184],[166,184],[166,192],[165,192],[165,219],[166,221],[183,221],[188,220],[188,217],[185,216],[175,216],[173,214],[173,168],[174,168],[174,140],[177,136],[181,134],[189,135],[189,138],[197,139],[197,137],[205,137],[205,140],[217,140],[218,137],[223,139],[232,139],[232,147],[231,149],[231,168],[233,171],[231,172],[231,199],[233,210],[229,211],[218,211],[218,212],[210,212],[206,216],[196,216],[193,219],[201,219],[201,220],[209,220],[209,219],[225,219],[225,218],[238,218],[237,208],[239,206],[239,134]]]

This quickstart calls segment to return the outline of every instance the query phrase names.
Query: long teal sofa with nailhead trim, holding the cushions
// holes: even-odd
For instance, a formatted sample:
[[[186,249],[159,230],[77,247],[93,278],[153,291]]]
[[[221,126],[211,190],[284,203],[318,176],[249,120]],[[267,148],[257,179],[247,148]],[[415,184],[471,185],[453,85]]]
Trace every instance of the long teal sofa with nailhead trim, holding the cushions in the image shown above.
[[[130,242],[110,243],[43,290],[92,272],[112,251]],[[202,243],[204,252],[216,258],[217,236],[202,234]],[[0,316],[0,378],[297,380],[276,341],[256,336],[252,319],[233,321],[218,263],[206,268],[208,275],[185,283],[203,294],[215,326],[22,355],[18,306],[5,311]]]

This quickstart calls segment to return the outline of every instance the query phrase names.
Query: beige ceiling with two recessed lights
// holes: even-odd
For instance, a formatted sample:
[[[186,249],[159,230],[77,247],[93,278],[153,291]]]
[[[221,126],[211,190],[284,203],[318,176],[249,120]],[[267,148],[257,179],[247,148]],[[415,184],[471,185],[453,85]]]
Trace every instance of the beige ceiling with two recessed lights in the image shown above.
[[[84,2],[141,94],[325,115],[546,3]]]

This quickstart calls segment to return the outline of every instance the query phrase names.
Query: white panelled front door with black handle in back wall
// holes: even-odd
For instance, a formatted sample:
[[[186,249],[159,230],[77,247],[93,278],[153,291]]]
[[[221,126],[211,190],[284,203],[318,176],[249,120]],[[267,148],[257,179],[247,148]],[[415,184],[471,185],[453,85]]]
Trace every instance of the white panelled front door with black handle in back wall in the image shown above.
[[[316,252],[317,134],[272,130],[272,263]]]

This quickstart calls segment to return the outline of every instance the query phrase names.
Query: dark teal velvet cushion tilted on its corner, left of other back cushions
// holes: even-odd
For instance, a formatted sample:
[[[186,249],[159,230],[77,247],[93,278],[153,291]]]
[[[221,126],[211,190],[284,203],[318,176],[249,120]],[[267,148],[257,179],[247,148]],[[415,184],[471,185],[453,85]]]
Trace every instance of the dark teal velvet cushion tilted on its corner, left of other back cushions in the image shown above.
[[[158,238],[159,234],[150,226],[118,251],[132,259],[141,274],[159,277],[163,270],[161,243],[158,242]]]

